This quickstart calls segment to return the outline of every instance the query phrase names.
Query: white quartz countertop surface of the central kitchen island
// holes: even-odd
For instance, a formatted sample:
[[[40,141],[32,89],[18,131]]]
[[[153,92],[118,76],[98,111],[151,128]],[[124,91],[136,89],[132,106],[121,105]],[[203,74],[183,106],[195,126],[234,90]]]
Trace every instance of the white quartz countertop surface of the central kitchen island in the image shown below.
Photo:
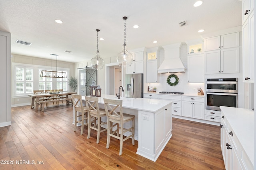
[[[123,108],[149,111],[154,113],[162,109],[163,107],[169,104],[172,104],[172,101],[163,101],[163,100],[148,99],[148,98],[120,97],[120,99],[118,99],[118,97],[114,95],[108,95],[108,94],[102,94],[101,97],[99,97],[99,102],[98,102],[99,104],[104,104],[103,98],[123,100],[123,105],[122,105]],[[85,100],[84,96],[82,96],[82,100]]]

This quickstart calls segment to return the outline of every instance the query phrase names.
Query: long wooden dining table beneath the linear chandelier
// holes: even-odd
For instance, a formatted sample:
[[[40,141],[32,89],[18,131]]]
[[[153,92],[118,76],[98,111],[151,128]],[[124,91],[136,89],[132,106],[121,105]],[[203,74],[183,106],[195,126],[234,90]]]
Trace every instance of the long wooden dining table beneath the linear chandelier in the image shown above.
[[[41,93],[41,94],[28,94],[32,98],[31,100],[31,107],[35,111],[38,111],[39,103],[41,101],[60,101],[60,100],[70,100],[68,95],[76,94],[76,92],[59,92],[59,93]],[[44,106],[44,105],[43,105]]]

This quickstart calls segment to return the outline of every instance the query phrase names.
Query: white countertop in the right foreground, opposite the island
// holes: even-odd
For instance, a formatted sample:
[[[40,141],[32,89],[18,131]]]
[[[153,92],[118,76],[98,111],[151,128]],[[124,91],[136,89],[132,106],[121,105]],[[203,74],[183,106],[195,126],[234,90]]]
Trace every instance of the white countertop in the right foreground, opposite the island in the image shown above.
[[[226,106],[220,109],[254,165],[254,111]]]

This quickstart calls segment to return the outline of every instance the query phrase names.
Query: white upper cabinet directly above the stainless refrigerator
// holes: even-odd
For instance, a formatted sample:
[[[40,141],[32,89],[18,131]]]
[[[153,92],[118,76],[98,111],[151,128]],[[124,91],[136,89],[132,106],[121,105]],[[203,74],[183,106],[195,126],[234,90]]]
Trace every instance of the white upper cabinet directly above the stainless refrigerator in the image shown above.
[[[144,52],[132,53],[132,65],[126,67],[126,74],[143,73],[143,57]]]

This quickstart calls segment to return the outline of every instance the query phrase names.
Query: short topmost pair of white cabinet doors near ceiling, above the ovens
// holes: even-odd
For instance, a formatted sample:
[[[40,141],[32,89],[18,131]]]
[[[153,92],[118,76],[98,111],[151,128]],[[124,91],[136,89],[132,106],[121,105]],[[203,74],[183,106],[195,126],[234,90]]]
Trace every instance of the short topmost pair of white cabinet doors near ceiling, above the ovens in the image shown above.
[[[239,32],[204,39],[204,51],[239,47]]]

